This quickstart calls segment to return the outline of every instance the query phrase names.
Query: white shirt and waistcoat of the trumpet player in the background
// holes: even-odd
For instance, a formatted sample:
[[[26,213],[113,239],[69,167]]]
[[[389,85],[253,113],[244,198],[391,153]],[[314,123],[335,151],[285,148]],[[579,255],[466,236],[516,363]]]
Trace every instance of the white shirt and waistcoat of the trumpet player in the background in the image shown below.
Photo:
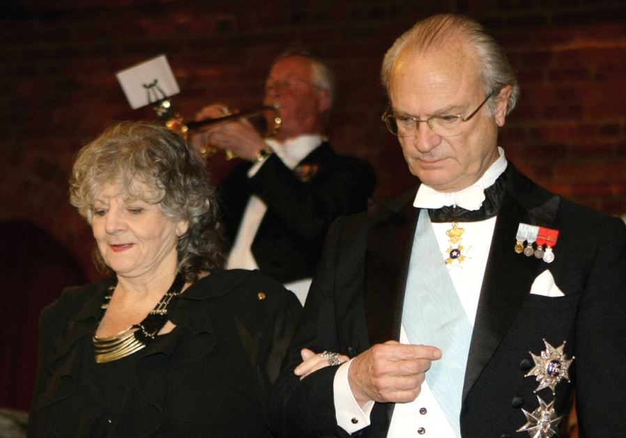
[[[275,139],[266,139],[265,142],[278,158],[282,160],[284,165],[289,167],[289,169],[294,169],[298,163],[314,151],[322,141],[323,137],[319,134],[305,134],[287,139],[283,143],[277,142]],[[259,169],[264,163],[265,162],[254,163],[248,170],[247,176],[252,178],[252,176],[259,172]],[[263,220],[266,211],[267,205],[261,198],[252,195],[250,199],[248,199],[233,248],[228,256],[226,269],[259,269],[259,265],[257,261],[254,260],[250,247],[252,246],[252,241],[254,241],[254,236],[257,235],[257,230],[259,229],[259,225],[261,225],[261,220]],[[289,282],[285,284],[284,287],[296,294],[300,303],[304,305],[311,281],[311,278],[302,278]]]

